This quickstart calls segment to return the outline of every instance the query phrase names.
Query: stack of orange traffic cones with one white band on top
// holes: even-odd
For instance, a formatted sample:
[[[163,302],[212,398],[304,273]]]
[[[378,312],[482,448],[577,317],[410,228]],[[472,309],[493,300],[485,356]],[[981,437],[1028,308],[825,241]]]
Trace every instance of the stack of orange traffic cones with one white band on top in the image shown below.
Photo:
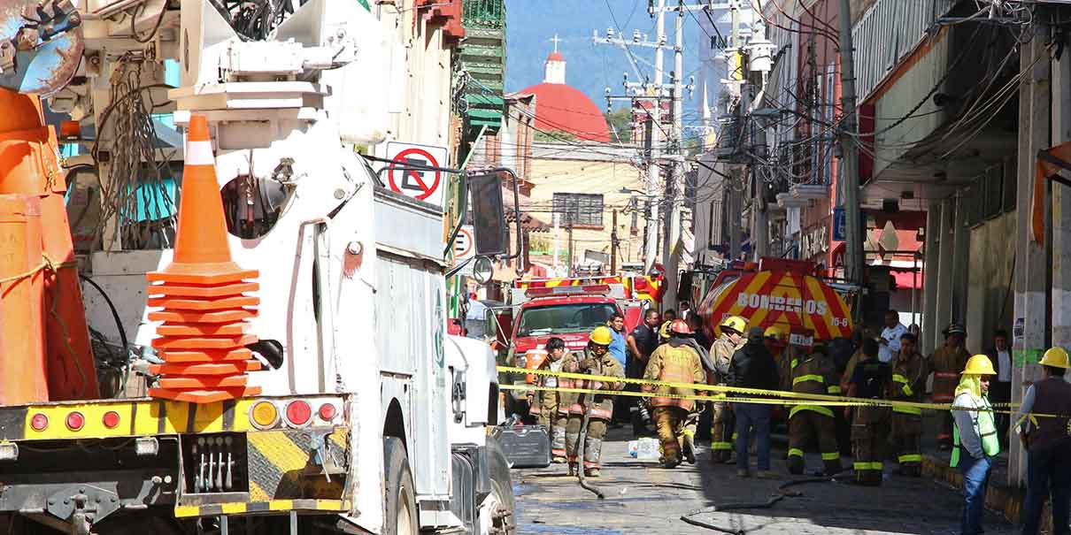
[[[152,341],[165,364],[150,371],[161,376],[149,388],[156,398],[211,403],[255,396],[250,371],[259,361],[246,346],[250,318],[259,300],[246,295],[259,285],[255,270],[242,270],[230,258],[223,198],[215,178],[215,158],[203,116],[192,116],[186,133],[185,168],[179,204],[175,259],[163,271],[148,274],[149,319],[163,321]]]

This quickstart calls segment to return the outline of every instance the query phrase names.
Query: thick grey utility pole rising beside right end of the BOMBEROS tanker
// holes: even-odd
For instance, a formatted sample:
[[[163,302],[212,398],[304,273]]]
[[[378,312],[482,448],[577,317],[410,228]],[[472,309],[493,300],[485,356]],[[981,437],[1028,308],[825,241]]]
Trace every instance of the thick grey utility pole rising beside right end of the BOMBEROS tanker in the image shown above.
[[[845,250],[844,271],[849,282],[862,284],[863,242],[861,213],[859,210],[859,153],[853,136],[857,134],[856,125],[856,73],[854,45],[851,43],[851,2],[841,0],[840,21],[841,45],[841,108],[844,119],[841,121],[841,165],[843,172],[844,211],[845,211]],[[858,305],[858,303],[857,303]],[[856,319],[860,307],[853,306]]]

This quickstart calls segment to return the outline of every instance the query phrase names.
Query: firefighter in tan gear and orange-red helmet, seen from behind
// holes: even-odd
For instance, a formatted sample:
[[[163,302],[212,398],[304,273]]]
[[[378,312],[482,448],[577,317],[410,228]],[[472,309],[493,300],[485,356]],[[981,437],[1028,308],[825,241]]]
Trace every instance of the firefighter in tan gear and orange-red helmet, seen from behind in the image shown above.
[[[648,381],[680,383],[679,386],[643,385],[644,392],[654,393],[654,397],[650,398],[651,416],[658,427],[662,443],[662,464],[665,468],[680,464],[682,449],[684,459],[695,463],[695,418],[689,418],[689,414],[695,409],[696,402],[693,399],[670,397],[696,396],[696,391],[685,385],[704,384],[707,380],[699,354],[688,345],[687,337],[691,334],[692,330],[684,320],[673,320],[669,325],[669,341],[651,353],[644,371],[644,379]]]

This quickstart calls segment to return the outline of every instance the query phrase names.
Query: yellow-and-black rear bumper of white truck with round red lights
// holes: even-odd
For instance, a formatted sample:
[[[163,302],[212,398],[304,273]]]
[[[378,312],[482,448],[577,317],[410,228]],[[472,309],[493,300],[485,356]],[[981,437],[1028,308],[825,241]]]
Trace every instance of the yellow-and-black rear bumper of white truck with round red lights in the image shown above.
[[[313,415],[288,411],[295,400]],[[277,409],[274,419],[260,418],[270,425],[253,417],[258,406],[271,414],[265,402]],[[325,403],[337,414],[320,414]],[[342,396],[316,396],[3,408],[0,513],[99,521],[153,506],[172,507],[177,518],[350,511],[345,407]]]

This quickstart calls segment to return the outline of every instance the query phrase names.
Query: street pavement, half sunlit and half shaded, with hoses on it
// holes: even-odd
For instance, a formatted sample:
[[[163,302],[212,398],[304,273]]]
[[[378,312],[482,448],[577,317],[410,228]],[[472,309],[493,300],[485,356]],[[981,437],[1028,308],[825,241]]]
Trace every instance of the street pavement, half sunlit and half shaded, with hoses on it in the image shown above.
[[[772,469],[781,480],[738,478],[735,464],[711,464],[705,447],[698,462],[665,470],[627,454],[631,432],[613,429],[603,447],[602,477],[589,479],[605,500],[584,490],[563,464],[540,470],[514,470],[514,492],[519,533],[534,534],[711,534],[690,525],[682,515],[705,510],[696,520],[729,532],[751,534],[955,534],[959,533],[961,494],[925,478],[894,474],[886,462],[881,487],[851,485],[850,472],[830,483],[789,488],[771,508],[709,510],[719,505],[766,502],[779,485],[789,480],[784,448],[774,447]],[[751,458],[752,470],[755,458]],[[844,467],[851,459],[842,459]],[[808,455],[809,470],[820,467],[817,455]],[[803,477],[803,476],[799,476]],[[1012,525],[986,513],[987,534],[1011,534]]]

